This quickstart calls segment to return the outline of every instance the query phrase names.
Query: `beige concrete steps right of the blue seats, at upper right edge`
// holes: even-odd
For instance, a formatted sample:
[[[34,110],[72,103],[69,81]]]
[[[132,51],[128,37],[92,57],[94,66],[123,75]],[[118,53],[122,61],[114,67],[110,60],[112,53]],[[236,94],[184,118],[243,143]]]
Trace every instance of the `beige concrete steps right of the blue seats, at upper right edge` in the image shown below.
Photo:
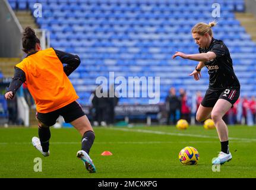
[[[251,35],[252,40],[256,42],[256,18],[254,15],[248,12],[236,12],[235,17],[241,22],[246,32]]]

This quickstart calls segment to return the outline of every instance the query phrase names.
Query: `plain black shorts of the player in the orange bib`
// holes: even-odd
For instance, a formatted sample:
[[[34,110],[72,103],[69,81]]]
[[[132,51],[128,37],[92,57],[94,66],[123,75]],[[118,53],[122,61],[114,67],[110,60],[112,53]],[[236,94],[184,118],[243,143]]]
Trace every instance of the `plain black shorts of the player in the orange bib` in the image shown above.
[[[59,116],[63,116],[66,123],[70,123],[81,116],[86,115],[77,101],[69,103],[69,105],[61,107],[53,112],[39,113],[36,112],[36,118],[47,126],[52,126],[56,123]]]

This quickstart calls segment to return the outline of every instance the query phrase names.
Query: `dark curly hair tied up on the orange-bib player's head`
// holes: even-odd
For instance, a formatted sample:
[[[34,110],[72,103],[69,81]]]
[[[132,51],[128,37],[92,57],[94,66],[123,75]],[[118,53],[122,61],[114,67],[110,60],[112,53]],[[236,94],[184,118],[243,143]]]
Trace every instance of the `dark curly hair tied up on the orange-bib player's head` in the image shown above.
[[[40,40],[36,37],[36,33],[31,27],[26,27],[23,31],[22,46],[25,53],[36,49],[36,43],[40,44]]]

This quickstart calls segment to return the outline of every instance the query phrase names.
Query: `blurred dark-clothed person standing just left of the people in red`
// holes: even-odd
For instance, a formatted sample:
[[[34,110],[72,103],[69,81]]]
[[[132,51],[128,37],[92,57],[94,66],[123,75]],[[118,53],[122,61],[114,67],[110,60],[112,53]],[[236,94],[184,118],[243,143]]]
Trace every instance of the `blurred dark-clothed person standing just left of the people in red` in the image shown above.
[[[166,102],[166,110],[167,110],[167,125],[176,124],[176,111],[179,110],[179,107],[181,105],[181,102],[176,96],[176,90],[175,88],[170,88],[169,94],[165,99]],[[172,121],[170,121],[170,118],[172,118]]]

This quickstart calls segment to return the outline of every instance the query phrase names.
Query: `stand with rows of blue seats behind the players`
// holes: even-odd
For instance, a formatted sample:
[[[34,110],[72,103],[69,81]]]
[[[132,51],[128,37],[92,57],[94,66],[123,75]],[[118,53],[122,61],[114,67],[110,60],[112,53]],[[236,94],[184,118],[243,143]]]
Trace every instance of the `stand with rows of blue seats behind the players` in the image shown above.
[[[213,20],[215,1],[184,0],[9,0],[13,9],[31,9],[42,4],[43,17],[36,18],[51,33],[51,46],[81,58],[71,76],[83,105],[89,104],[99,76],[159,76],[160,102],[169,88],[185,88],[188,95],[205,91],[208,74],[195,82],[189,77],[197,62],[172,60],[176,50],[197,53],[191,28]],[[245,9],[243,0],[218,1],[221,6],[214,37],[229,47],[235,72],[241,81],[241,95],[255,94],[256,45],[235,18]],[[121,98],[120,104],[148,103],[147,99]]]

